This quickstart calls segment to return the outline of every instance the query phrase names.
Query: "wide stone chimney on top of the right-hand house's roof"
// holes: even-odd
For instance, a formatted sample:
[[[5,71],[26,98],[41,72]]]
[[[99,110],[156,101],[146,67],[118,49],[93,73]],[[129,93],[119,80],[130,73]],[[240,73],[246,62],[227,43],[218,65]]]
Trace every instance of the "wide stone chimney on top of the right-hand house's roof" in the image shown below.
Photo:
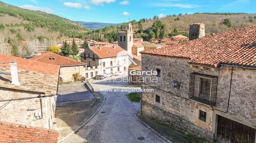
[[[189,40],[202,38],[205,36],[204,23],[194,23],[189,26]]]

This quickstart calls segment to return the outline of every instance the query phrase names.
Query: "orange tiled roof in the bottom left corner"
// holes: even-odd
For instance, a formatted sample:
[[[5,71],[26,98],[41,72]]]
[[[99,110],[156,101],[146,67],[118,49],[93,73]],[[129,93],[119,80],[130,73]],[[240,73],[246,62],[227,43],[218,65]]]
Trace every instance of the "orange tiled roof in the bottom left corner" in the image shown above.
[[[56,130],[0,122],[0,142],[49,142],[58,140]]]

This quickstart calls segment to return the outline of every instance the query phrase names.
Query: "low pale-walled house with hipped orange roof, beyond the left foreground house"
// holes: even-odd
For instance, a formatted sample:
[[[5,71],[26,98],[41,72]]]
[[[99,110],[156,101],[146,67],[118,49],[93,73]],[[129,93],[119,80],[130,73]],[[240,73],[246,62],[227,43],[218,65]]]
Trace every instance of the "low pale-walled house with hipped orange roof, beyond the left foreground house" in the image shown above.
[[[85,77],[87,63],[78,62],[53,52],[34,56],[29,60],[60,66],[59,79],[62,82],[74,81],[72,76],[74,73]]]

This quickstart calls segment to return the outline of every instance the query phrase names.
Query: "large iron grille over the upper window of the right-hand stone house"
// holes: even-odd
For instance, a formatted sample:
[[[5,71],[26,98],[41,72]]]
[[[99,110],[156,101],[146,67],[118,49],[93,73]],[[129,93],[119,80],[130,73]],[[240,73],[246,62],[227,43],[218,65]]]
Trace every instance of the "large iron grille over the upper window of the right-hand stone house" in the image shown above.
[[[215,105],[217,83],[218,76],[197,72],[190,73],[188,97],[208,105]]]

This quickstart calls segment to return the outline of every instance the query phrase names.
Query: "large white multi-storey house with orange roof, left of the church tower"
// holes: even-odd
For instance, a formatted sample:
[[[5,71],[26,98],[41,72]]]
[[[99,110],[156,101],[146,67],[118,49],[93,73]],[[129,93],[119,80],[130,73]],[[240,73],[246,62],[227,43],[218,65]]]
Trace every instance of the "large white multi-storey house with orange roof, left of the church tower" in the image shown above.
[[[118,71],[126,72],[129,64],[127,52],[116,45],[90,47],[80,56],[82,62],[88,63],[86,78]]]

